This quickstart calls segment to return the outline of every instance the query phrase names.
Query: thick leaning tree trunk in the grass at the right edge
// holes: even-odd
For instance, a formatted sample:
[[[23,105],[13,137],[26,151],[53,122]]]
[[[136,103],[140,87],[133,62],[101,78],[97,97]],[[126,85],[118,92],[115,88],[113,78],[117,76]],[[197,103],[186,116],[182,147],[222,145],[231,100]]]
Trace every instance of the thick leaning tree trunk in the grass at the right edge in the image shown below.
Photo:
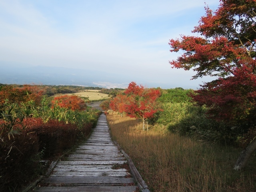
[[[240,157],[234,166],[234,170],[243,169],[254,150],[256,150],[256,138],[241,152]]]

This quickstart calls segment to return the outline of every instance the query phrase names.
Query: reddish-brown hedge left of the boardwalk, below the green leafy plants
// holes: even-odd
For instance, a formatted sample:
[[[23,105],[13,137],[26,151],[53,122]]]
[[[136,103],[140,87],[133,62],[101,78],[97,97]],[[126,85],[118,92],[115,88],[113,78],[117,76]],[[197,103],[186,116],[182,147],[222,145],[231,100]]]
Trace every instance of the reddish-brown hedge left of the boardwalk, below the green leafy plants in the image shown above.
[[[4,121],[0,119],[2,123]],[[92,123],[78,129],[76,124],[58,120],[44,124],[41,118],[26,118],[23,124],[26,126],[24,129],[20,125],[14,127],[14,130],[20,129],[20,134],[10,139],[7,134],[2,137],[5,144],[0,143],[0,191],[16,191],[31,181],[35,172],[38,172],[38,153],[41,152],[46,159],[58,156],[88,136],[92,129]]]

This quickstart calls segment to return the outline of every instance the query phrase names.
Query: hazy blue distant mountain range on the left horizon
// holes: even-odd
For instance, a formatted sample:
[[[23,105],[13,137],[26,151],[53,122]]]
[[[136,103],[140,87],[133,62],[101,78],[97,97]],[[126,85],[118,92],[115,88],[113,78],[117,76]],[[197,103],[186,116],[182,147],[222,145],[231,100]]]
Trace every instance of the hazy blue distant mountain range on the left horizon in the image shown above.
[[[2,84],[44,84],[98,86],[103,88],[126,88],[129,82],[120,84],[115,74],[93,70],[81,70],[48,66],[1,66]]]

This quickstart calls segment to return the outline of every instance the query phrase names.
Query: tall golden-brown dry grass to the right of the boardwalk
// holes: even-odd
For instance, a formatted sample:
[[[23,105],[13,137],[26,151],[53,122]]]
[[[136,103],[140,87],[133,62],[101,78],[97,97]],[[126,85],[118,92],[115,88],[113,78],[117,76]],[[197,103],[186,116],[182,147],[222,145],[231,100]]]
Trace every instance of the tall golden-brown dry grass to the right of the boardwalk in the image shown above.
[[[140,121],[117,114],[107,119],[112,138],[132,158],[152,192],[256,190],[253,160],[245,171],[232,169],[240,149],[196,142],[160,125],[143,131]]]

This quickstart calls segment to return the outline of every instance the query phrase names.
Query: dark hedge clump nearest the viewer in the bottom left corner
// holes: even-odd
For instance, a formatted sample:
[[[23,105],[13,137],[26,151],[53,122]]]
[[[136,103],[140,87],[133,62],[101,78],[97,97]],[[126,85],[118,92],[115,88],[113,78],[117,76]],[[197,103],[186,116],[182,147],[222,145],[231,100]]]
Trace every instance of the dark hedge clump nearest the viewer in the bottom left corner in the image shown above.
[[[5,138],[0,148],[0,191],[16,191],[38,174],[38,139],[24,130],[15,137]]]

